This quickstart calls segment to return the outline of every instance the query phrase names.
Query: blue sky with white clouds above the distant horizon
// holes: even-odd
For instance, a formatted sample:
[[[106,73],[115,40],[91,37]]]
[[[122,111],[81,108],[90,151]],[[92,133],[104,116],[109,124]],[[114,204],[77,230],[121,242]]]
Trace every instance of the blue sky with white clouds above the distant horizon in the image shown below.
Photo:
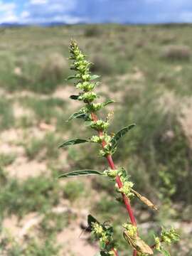
[[[192,0],[0,0],[0,23],[192,22]]]

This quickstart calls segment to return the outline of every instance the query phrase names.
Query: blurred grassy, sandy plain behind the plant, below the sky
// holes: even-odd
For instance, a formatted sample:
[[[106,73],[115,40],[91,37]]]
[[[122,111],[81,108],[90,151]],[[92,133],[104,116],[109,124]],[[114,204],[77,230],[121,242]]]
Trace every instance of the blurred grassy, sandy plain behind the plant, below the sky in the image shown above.
[[[119,223],[126,212],[105,178],[58,181],[65,171],[104,170],[93,146],[58,150],[65,139],[89,137],[80,120],[65,122],[80,104],[70,75],[68,44],[78,41],[92,72],[101,75],[101,99],[116,103],[111,132],[135,122],[114,161],[154,213],[132,201],[148,242],[150,229],[178,228],[172,255],[192,255],[192,41],[191,26],[77,25],[0,28],[0,255],[95,255],[83,234],[87,213]],[[107,113],[107,112],[106,112]]]

